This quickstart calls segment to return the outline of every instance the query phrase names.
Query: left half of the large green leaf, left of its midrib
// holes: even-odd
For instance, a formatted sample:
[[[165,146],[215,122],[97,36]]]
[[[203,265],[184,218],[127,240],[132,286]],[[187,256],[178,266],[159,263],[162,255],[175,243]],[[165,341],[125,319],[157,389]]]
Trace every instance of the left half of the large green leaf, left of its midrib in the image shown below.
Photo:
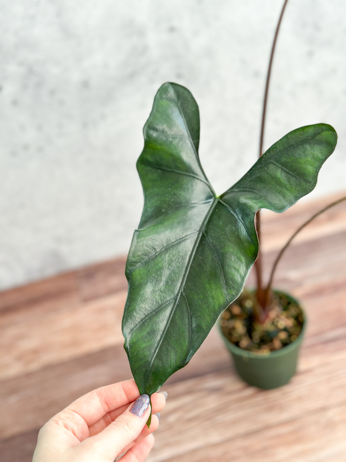
[[[199,113],[188,90],[162,85],[143,133],[137,170],[144,208],[126,265],[123,332],[138,388],[151,395],[190,354],[191,318],[183,285],[216,199],[199,163]],[[166,347],[174,342],[179,351]]]

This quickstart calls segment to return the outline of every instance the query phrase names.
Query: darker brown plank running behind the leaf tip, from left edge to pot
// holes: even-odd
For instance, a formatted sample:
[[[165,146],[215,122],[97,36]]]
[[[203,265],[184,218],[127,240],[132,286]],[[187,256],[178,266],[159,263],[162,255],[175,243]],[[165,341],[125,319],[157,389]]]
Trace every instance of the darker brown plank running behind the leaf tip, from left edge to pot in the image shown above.
[[[215,329],[189,365],[170,377],[167,383],[199,377],[206,369],[227,370],[229,365],[228,353]],[[7,419],[0,420],[1,438],[10,438],[41,427],[78,396],[131,377],[127,356],[121,344],[3,380],[0,402]]]

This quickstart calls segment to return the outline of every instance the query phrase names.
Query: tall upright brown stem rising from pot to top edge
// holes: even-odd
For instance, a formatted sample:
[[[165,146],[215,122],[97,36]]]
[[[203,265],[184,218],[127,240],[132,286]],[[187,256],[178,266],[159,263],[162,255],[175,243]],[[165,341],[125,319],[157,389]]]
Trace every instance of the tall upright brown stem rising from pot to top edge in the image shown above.
[[[263,98],[263,108],[262,108],[262,122],[261,122],[261,135],[260,135],[260,146],[259,146],[259,156],[261,157],[263,154],[263,139],[264,139],[264,128],[265,128],[265,119],[266,119],[266,111],[267,111],[267,101],[268,101],[268,91],[269,91],[269,81],[270,81],[270,74],[272,70],[272,64],[273,64],[273,58],[274,58],[274,51],[275,51],[275,45],[276,45],[276,40],[279,34],[279,29],[280,29],[280,24],[282,21],[282,17],[287,5],[287,1],[284,1],[284,4],[282,6],[280,18],[276,27],[275,35],[274,35],[274,40],[273,40],[273,45],[270,53],[270,60],[269,60],[269,65],[268,65],[268,72],[267,72],[267,80],[266,80],[266,86],[265,86],[265,91],[264,91],[264,98]],[[257,259],[255,261],[255,269],[256,269],[256,275],[257,275],[257,300],[264,310],[267,304],[267,297],[266,297],[266,292],[263,288],[263,271],[262,271],[262,252],[261,252],[261,216],[260,216],[260,211],[256,213],[255,217],[255,224],[256,224],[256,231],[257,231],[257,237],[258,237],[258,243],[259,243],[259,249],[258,249],[258,255]],[[257,313],[257,317],[259,319],[263,318],[264,313]]]

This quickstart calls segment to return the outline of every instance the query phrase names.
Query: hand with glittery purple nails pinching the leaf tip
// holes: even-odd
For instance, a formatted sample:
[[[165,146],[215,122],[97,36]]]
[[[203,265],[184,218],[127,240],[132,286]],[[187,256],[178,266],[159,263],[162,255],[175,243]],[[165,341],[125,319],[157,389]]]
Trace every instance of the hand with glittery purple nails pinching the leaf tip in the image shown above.
[[[139,396],[134,380],[90,391],[54,415],[41,428],[33,462],[142,462],[153,447],[154,432],[167,394]],[[135,401],[136,400],[136,401]],[[135,403],[133,403],[135,401]]]

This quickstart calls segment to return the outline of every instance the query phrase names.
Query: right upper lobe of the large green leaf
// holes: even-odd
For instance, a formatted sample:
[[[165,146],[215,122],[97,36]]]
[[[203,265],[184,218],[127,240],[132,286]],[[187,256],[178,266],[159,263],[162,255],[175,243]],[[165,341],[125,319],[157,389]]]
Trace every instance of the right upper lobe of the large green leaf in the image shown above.
[[[316,186],[322,164],[337,142],[333,127],[319,123],[297,128],[266,151],[256,164],[221,198],[242,208],[284,212]]]

